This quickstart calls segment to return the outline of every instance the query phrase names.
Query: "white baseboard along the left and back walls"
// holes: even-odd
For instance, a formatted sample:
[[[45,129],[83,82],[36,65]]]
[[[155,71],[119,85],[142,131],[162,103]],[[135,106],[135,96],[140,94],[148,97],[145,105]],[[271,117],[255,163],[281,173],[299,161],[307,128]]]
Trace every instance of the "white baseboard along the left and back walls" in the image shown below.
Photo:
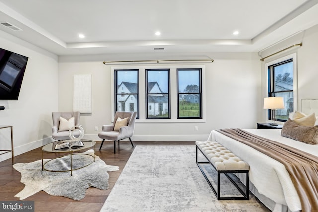
[[[207,140],[209,135],[134,135],[132,137],[133,141],[204,141]],[[97,134],[85,134],[84,139],[89,139],[93,141],[102,141]],[[124,139],[123,141],[129,141],[129,139]],[[14,156],[23,154],[25,152],[31,151],[38,147],[44,146],[52,141],[52,137],[41,139],[38,141],[33,141],[26,143],[21,146],[14,147]],[[11,158],[11,152],[0,155],[0,162]],[[39,158],[40,160],[41,158]]]

